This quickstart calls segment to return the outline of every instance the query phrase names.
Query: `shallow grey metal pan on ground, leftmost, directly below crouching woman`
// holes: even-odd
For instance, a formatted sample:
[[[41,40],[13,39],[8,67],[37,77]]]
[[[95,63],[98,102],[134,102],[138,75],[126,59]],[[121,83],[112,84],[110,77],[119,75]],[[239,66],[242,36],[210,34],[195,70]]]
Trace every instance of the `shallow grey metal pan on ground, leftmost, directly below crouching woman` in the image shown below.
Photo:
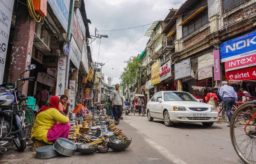
[[[48,145],[48,146],[37,148],[35,158],[49,159],[49,158],[57,157],[58,155],[59,153],[56,150],[54,150],[53,146]]]

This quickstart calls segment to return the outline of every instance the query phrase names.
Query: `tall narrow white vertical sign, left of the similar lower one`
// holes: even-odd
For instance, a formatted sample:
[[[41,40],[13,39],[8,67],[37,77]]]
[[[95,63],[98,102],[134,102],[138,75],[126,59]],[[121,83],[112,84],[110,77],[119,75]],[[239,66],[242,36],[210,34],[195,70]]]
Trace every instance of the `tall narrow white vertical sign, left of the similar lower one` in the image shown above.
[[[58,72],[57,72],[57,85],[56,85],[56,95],[60,98],[64,95],[65,88],[65,77],[66,77],[66,56],[62,55],[58,59]]]

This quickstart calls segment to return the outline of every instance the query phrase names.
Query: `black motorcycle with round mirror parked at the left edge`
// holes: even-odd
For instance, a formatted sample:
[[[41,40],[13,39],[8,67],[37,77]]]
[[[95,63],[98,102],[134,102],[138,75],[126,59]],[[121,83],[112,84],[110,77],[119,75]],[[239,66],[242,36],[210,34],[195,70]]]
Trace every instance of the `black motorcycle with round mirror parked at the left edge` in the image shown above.
[[[35,69],[35,64],[26,67],[26,71]],[[23,73],[25,73],[23,72]],[[22,73],[22,74],[23,74]],[[4,83],[0,85],[0,146],[6,145],[8,142],[14,141],[17,150],[26,149],[26,131],[23,128],[25,112],[19,109],[19,101],[26,100],[25,95],[18,95],[18,81],[35,80],[35,77],[23,78],[12,83]],[[21,84],[21,86],[23,85]]]

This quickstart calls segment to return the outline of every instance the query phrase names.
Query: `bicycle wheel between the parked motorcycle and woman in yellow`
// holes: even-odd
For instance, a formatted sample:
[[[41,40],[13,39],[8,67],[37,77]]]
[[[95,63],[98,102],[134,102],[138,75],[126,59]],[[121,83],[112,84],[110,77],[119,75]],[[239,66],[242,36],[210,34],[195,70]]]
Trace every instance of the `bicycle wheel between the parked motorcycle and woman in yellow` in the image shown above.
[[[35,113],[31,108],[23,109],[25,112],[25,118],[24,118],[24,129],[26,131],[27,138],[31,138],[31,130],[35,123]]]

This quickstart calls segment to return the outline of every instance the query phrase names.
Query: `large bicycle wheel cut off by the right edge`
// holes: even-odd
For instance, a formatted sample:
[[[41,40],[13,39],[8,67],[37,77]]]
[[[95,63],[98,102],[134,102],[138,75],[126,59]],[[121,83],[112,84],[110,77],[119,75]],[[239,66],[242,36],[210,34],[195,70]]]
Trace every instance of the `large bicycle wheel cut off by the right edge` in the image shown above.
[[[246,164],[256,163],[256,129],[252,124],[248,124],[246,127],[247,133],[244,131],[245,125],[243,128],[235,128],[236,119],[233,118],[251,108],[256,109],[256,103],[247,102],[239,106],[233,113],[230,126],[230,137],[233,147],[239,158]]]

